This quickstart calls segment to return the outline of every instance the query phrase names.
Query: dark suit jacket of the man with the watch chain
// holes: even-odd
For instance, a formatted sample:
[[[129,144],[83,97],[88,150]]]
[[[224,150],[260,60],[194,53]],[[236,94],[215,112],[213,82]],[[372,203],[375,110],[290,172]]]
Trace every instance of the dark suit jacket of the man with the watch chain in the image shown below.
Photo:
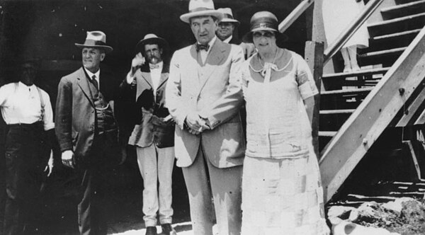
[[[100,91],[107,101],[118,98],[119,82],[101,68]],[[111,102],[110,102],[111,103]],[[91,153],[95,135],[96,110],[86,72],[81,67],[60,80],[55,116],[55,132],[61,151],[73,150],[77,158]],[[118,149],[118,132],[114,135]]]

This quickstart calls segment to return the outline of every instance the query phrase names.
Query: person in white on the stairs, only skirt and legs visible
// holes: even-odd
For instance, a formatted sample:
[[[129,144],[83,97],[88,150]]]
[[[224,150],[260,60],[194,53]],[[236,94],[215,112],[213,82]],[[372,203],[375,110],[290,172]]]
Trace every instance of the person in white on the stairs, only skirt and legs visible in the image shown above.
[[[322,16],[324,33],[328,46],[345,30],[351,21],[363,11],[362,0],[323,0]],[[365,23],[354,33],[341,49],[344,58],[344,72],[359,70],[357,62],[357,48],[369,46],[369,34]]]

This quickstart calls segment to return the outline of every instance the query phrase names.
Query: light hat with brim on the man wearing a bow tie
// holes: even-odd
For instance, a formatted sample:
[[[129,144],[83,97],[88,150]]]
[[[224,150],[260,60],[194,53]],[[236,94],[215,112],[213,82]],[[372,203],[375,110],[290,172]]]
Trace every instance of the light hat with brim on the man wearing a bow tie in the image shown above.
[[[214,16],[220,21],[223,14],[215,10],[212,0],[191,0],[189,1],[189,12],[180,16],[181,21],[189,23],[189,20],[197,16]]]

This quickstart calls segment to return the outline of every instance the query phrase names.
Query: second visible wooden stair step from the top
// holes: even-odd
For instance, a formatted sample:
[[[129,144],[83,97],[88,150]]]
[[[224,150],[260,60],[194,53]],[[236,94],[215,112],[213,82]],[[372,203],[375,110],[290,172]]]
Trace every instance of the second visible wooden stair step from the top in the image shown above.
[[[369,34],[372,37],[397,33],[400,30],[414,30],[422,28],[425,24],[425,12],[417,13],[410,16],[403,16],[387,21],[379,21],[368,25]]]

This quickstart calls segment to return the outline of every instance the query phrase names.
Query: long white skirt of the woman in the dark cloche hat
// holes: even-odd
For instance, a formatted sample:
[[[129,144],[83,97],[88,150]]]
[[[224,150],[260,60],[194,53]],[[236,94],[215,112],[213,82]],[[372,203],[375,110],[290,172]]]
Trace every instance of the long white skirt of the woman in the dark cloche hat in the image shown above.
[[[295,159],[245,157],[242,235],[278,234],[329,234],[314,154]]]

